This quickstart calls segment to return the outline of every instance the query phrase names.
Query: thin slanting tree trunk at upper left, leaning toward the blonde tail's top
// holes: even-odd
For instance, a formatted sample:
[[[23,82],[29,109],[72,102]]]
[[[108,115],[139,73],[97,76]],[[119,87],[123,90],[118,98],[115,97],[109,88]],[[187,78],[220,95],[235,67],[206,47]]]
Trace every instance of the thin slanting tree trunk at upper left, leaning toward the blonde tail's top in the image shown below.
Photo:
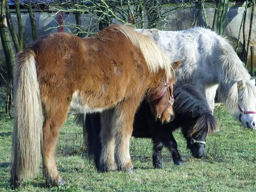
[[[6,20],[7,20],[7,24],[9,27],[9,31],[12,36],[12,41],[13,41],[15,51],[16,51],[16,53],[18,53],[18,52],[20,52],[19,39],[18,39],[16,31],[14,30],[14,27],[13,27],[8,1],[6,1]]]

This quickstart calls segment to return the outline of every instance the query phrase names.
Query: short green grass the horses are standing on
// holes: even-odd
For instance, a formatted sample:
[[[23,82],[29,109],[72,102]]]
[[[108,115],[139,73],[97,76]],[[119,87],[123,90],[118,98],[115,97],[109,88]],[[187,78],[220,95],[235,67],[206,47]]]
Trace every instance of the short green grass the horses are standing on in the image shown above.
[[[171,154],[163,150],[164,168],[153,169],[149,139],[131,139],[130,155],[135,174],[98,173],[82,153],[82,128],[69,116],[56,148],[59,174],[65,186],[46,188],[42,173],[26,180],[16,191],[256,191],[256,131],[244,128],[226,111],[216,107],[220,132],[209,136],[206,155],[195,159],[186,149],[180,131],[174,137],[184,165],[174,166]],[[13,120],[0,113],[0,191],[8,186]]]

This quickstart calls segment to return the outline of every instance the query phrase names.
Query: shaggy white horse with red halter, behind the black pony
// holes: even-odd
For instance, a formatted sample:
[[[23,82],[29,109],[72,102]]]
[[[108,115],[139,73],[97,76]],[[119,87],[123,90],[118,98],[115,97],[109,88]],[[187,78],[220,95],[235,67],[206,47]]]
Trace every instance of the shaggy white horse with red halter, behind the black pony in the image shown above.
[[[137,31],[151,36],[170,60],[181,60],[175,70],[177,83],[197,87],[206,96],[212,111],[219,87],[220,101],[243,126],[256,129],[255,79],[251,79],[225,38],[201,27],[183,31]]]

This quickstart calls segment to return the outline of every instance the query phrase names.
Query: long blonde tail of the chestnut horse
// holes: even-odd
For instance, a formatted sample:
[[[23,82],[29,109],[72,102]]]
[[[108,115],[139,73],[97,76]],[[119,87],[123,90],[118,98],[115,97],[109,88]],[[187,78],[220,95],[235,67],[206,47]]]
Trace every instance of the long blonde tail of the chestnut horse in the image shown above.
[[[43,113],[32,50],[19,54],[14,77],[15,117],[11,185],[19,186],[39,170]]]

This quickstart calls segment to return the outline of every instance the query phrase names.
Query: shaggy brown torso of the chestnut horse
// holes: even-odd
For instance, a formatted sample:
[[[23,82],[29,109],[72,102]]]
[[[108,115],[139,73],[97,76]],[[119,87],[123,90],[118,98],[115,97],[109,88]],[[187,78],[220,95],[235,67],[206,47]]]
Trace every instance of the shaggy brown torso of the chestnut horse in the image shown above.
[[[150,81],[141,51],[122,33],[105,31],[85,39],[54,33],[28,49],[35,53],[43,103],[54,97],[51,103],[69,105],[76,94],[81,106],[109,108],[129,96],[142,95]]]

